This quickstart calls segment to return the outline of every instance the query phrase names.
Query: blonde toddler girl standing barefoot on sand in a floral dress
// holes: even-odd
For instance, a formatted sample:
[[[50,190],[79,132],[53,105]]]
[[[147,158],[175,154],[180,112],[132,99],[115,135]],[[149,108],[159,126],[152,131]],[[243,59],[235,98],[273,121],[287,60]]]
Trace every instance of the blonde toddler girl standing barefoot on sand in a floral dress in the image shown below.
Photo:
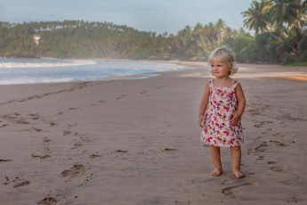
[[[213,176],[222,174],[220,147],[230,147],[232,172],[240,178],[245,176],[240,171],[243,143],[240,119],[246,99],[238,80],[230,78],[238,69],[234,66],[233,54],[224,47],[210,53],[208,63],[214,78],[206,82],[199,105],[198,124],[203,129],[200,139],[211,147]]]

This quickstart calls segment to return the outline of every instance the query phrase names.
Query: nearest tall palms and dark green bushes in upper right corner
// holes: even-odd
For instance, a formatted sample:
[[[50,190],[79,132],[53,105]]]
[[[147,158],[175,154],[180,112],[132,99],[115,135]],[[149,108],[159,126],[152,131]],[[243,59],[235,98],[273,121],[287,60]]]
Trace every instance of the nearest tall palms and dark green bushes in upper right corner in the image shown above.
[[[249,53],[245,61],[307,61],[306,11],[306,0],[254,0],[242,12],[244,26],[255,32],[254,40],[245,48],[254,53]]]

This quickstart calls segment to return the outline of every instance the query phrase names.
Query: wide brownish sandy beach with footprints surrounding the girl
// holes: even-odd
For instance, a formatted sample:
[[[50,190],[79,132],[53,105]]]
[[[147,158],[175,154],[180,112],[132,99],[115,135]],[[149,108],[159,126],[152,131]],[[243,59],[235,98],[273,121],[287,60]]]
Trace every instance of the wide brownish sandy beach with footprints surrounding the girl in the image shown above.
[[[307,204],[307,67],[239,65],[237,179],[199,139],[201,66],[147,79],[0,86],[0,204]]]

